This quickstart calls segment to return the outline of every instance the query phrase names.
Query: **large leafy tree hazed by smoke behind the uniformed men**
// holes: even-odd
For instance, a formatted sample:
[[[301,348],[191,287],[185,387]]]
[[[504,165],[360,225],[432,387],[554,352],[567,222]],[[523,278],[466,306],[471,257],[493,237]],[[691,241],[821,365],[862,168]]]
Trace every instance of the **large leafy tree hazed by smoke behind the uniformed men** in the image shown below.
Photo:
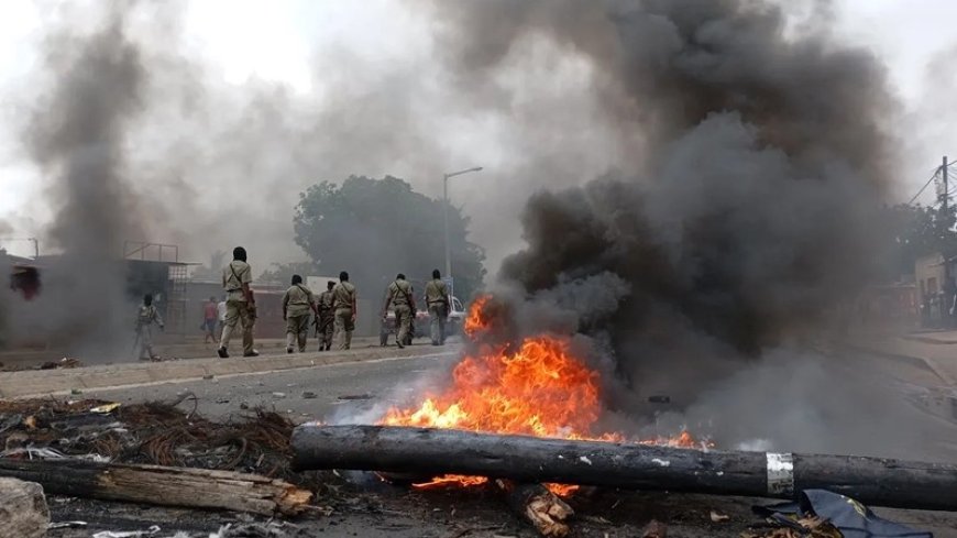
[[[485,253],[469,241],[469,218],[448,210],[455,295],[469,299],[485,276]],[[300,195],[294,223],[296,243],[315,268],[323,275],[348,271],[365,297],[384,294],[397,273],[416,284],[418,295],[432,270],[444,265],[442,200],[396,177],[314,185]]]

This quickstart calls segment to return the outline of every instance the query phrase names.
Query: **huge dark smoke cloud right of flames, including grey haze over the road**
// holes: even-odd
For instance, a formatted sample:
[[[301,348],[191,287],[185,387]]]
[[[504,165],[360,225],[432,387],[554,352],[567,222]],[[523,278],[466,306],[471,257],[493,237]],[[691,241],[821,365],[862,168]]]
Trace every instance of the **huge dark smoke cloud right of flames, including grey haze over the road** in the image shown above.
[[[594,121],[631,155],[527,201],[527,245],[495,290],[505,334],[590,337],[578,337],[584,354],[616,374],[613,420],[650,414],[647,397],[666,394],[683,411],[659,426],[693,422],[725,447],[765,436],[782,449],[902,455],[913,443],[895,436],[922,438],[872,380],[828,374],[809,351],[879,265],[872,219],[891,184],[898,105],[871,54],[834,42],[826,19],[789,26],[768,2],[435,10],[474,103],[507,107],[498,75],[543,40],[586,59]],[[861,424],[864,408],[894,432]]]

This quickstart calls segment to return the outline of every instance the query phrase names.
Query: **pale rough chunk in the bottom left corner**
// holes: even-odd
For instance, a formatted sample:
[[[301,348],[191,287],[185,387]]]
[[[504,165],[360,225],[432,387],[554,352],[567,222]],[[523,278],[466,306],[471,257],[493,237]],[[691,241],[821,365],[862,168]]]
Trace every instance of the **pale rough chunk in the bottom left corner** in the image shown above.
[[[47,525],[50,509],[40,484],[0,479],[0,538],[42,538]]]

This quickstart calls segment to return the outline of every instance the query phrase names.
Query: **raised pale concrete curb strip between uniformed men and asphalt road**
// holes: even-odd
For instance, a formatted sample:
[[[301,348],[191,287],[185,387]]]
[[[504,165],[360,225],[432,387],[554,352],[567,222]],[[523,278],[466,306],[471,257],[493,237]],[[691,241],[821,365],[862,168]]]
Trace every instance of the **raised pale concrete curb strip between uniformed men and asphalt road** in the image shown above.
[[[0,372],[0,398],[14,399],[43,397],[73,391],[117,388],[157,383],[329,366],[350,362],[364,362],[391,358],[438,356],[453,353],[458,347],[446,347],[441,352],[429,349],[369,349],[344,352],[312,352],[230,359],[185,359],[182,361],[123,363],[84,366],[72,370],[30,370]]]

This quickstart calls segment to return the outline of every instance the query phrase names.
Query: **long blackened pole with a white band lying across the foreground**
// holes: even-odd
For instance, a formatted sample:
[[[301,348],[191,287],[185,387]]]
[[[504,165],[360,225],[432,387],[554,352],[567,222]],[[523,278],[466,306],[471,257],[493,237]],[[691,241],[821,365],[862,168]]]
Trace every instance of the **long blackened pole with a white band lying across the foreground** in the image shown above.
[[[825,488],[878,506],[957,510],[957,465],[851,455],[700,451],[385,426],[296,428],[296,469],[469,474],[793,498]]]

